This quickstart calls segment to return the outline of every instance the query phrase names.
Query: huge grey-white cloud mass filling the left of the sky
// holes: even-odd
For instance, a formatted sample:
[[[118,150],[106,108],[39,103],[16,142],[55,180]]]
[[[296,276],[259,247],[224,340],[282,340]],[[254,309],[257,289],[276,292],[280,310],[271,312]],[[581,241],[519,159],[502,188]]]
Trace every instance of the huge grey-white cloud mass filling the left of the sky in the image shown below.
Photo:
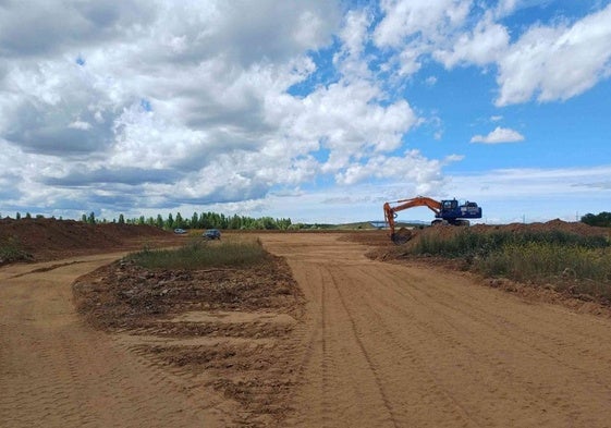
[[[341,183],[376,179],[371,169],[351,169],[370,157],[412,170],[420,186],[440,174],[440,167],[424,172],[435,160],[391,155],[420,119],[368,70],[367,10],[349,12],[342,24],[339,5],[326,0],[134,1],[130,12],[99,4],[108,15],[91,24],[99,33],[41,26],[53,44],[36,48],[40,35],[33,34],[30,45],[13,49],[7,40],[16,28],[0,30],[0,56],[12,58],[0,81],[0,143],[23,159],[16,169],[2,164],[2,180],[30,170],[13,185],[15,206],[239,204],[318,174]],[[76,23],[102,13],[85,9],[61,13]],[[139,10],[142,17],[131,17]],[[60,13],[12,12],[37,22],[40,11]],[[317,71],[307,50],[327,46],[332,34],[341,78],[290,95]]]

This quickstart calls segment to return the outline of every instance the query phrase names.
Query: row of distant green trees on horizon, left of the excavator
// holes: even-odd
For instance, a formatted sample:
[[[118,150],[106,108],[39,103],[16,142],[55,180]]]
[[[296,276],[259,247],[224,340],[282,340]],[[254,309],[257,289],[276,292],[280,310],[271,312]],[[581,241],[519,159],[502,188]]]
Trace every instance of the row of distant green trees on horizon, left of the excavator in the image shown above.
[[[83,215],[81,221],[89,224],[108,223],[106,219],[97,219],[94,212]],[[291,219],[274,219],[272,217],[253,218],[247,216],[225,216],[217,212],[194,212],[191,217],[183,217],[180,212],[167,217],[160,213],[157,217],[140,216],[137,218],[125,218],[122,213],[119,219],[110,222],[119,224],[148,224],[160,229],[223,229],[223,230],[288,230],[294,225]]]

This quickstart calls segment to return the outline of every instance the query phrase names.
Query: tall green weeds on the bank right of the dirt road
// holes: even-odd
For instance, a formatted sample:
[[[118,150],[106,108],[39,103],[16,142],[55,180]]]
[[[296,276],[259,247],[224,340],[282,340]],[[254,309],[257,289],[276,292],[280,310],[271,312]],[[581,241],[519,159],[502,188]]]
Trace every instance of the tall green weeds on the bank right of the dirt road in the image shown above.
[[[423,237],[411,252],[463,258],[465,269],[488,277],[553,283],[611,302],[611,242],[606,236],[549,232],[464,231],[454,237]]]

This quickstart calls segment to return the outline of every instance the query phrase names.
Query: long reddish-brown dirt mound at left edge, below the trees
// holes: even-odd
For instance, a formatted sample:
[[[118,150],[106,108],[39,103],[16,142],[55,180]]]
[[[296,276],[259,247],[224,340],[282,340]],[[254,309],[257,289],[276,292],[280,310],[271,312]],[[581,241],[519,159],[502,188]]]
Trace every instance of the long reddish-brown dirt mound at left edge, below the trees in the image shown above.
[[[27,257],[51,259],[99,249],[121,248],[143,239],[173,236],[150,225],[87,224],[57,219],[0,219],[0,245],[10,245]]]

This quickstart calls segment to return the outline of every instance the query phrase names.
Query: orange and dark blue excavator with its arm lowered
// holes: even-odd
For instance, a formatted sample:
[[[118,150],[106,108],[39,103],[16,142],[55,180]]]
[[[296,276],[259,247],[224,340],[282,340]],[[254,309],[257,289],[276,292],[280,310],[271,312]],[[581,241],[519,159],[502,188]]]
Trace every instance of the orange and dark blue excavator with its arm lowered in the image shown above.
[[[399,204],[399,205],[395,205]],[[396,212],[414,207],[428,207],[435,212],[435,220],[431,225],[453,224],[469,225],[465,219],[480,219],[481,207],[476,203],[466,201],[460,204],[456,199],[435,200],[426,196],[417,196],[412,199],[400,199],[384,204],[384,220],[390,229],[390,239],[394,243],[400,243],[400,239],[394,231],[394,219]]]

